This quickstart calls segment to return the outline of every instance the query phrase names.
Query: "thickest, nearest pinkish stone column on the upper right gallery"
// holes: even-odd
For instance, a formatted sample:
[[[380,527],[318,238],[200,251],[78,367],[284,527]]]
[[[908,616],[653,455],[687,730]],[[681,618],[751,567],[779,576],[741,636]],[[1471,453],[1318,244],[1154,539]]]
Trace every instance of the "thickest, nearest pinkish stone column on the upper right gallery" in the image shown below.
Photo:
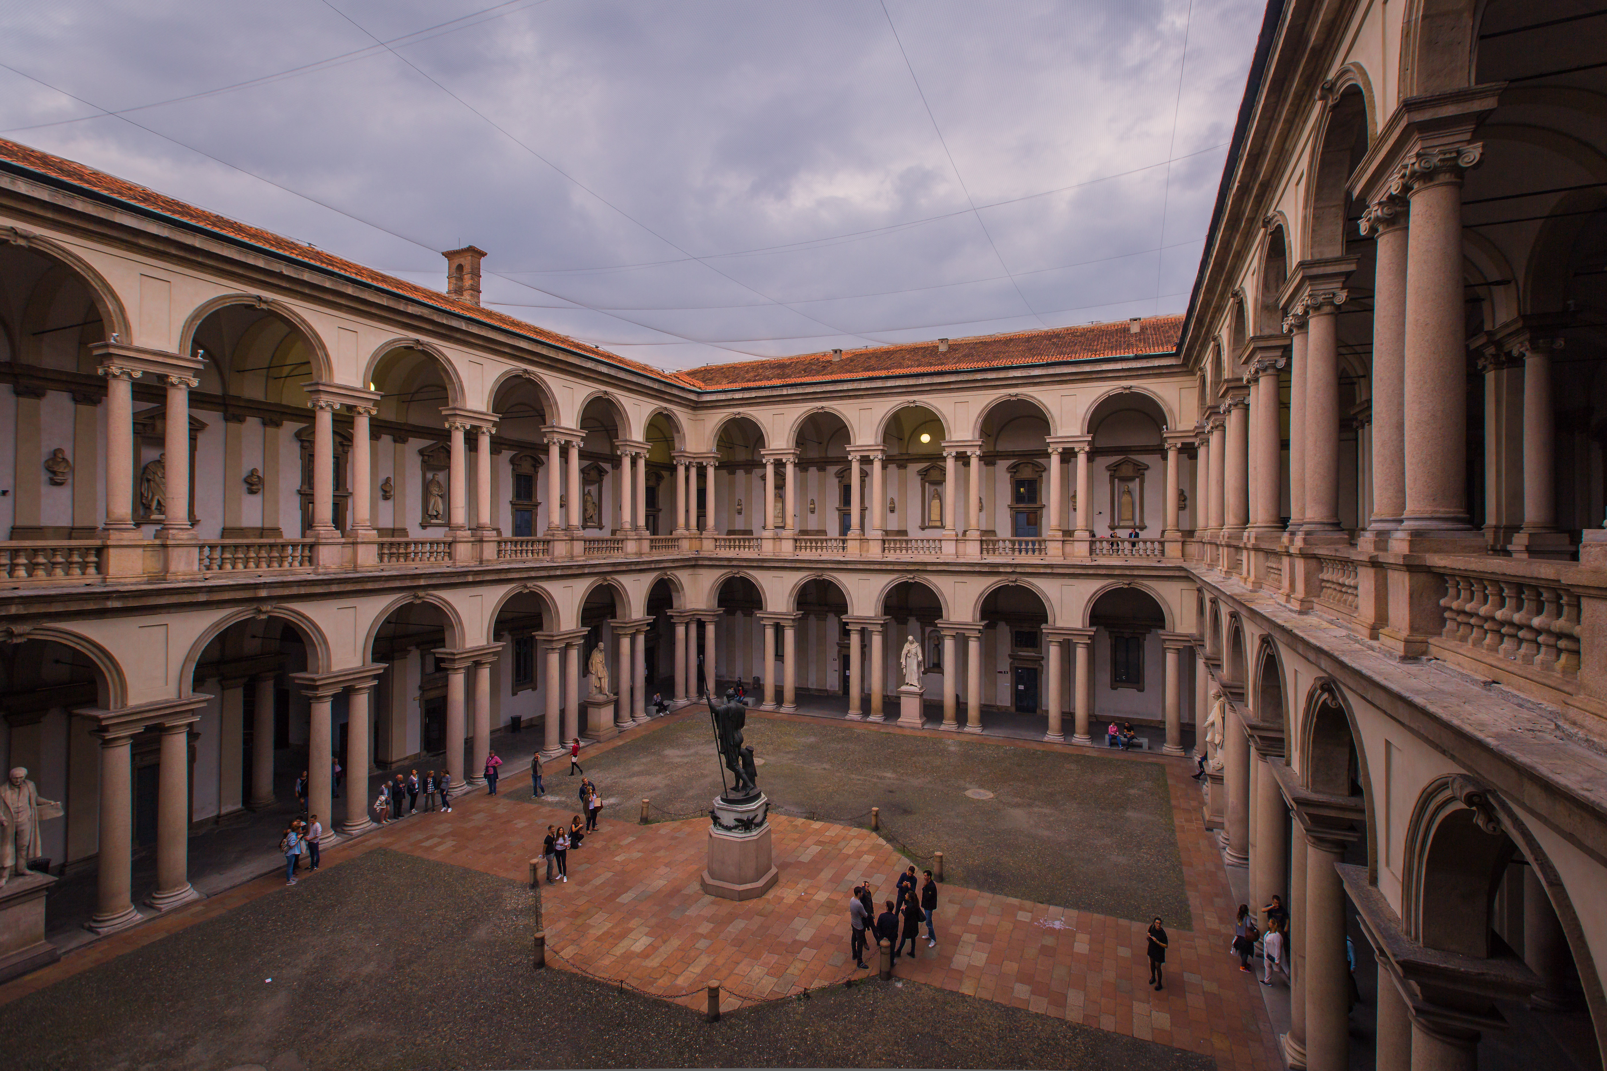
[[[1406,164],[1403,390],[1406,509],[1401,530],[1466,533],[1467,348],[1462,305],[1462,169],[1482,145],[1422,149]]]

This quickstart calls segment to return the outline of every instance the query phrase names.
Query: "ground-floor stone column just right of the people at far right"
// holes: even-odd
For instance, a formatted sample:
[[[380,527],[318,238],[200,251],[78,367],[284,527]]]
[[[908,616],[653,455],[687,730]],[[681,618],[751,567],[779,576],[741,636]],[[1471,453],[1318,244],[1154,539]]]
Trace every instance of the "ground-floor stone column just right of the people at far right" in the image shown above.
[[[1345,841],[1306,832],[1306,1068],[1350,1066],[1350,963],[1345,957],[1345,886],[1334,864]],[[1413,1039],[1416,1066],[1416,1037]]]

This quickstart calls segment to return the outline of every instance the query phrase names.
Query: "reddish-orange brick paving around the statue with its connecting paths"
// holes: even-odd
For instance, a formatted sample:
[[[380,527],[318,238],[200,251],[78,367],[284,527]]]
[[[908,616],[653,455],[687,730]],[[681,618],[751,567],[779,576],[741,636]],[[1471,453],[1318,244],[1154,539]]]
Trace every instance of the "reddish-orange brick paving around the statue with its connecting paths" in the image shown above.
[[[603,748],[667,721],[673,718]],[[1223,935],[1236,906],[1220,849],[1204,827],[1199,792],[1188,777],[1189,763],[1110,759],[1157,761],[1167,768],[1189,909],[1199,925],[1194,933],[1168,928],[1167,989],[1155,992],[1147,986],[1147,920],[1112,918],[953,885],[940,893],[938,947],[927,947],[922,938],[919,957],[897,960],[895,975],[1197,1052],[1215,1058],[1220,1068],[1281,1068],[1255,976],[1241,973],[1226,952]],[[554,774],[558,769],[554,764]],[[553,787],[561,780],[554,777]],[[570,853],[569,883],[543,883],[548,947],[558,967],[624,979],[688,1007],[701,1007],[704,984],[715,979],[726,986],[723,1007],[734,1010],[750,1000],[861,976],[848,959],[847,891],[869,880],[881,904],[908,865],[908,859],[869,830],[775,816],[781,880],[767,896],[733,904],[704,896],[699,886],[705,821],[643,827],[632,817],[628,808],[612,816],[604,812],[599,833]],[[410,817],[346,841],[325,853],[325,865],[384,846],[524,880],[545,829],[543,809],[509,796],[472,795],[460,800],[452,814]],[[296,894],[284,888],[283,878],[259,878],[96,941],[53,967],[0,986],[0,1004],[280,891]]]

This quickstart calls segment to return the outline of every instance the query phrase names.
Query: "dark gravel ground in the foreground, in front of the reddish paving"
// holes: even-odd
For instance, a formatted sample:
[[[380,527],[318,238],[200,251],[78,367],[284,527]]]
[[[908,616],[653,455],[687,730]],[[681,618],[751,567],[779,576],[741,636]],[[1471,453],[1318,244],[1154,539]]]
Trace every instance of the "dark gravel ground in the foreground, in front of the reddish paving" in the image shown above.
[[[376,849],[0,1008],[0,1068],[1212,1066],[897,979],[709,1024],[532,971],[534,909],[521,885]]]

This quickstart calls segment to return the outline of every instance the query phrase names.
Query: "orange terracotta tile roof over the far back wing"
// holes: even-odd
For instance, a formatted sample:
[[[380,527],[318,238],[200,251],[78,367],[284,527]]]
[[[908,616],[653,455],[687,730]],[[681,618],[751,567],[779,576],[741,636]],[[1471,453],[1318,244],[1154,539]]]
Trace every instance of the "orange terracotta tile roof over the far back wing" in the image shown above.
[[[831,360],[831,353],[805,353],[763,361],[704,364],[681,374],[704,389],[731,389],[1086,361],[1101,356],[1172,353],[1178,347],[1181,328],[1183,316],[1146,316],[1139,320],[1136,332],[1130,321],[1118,320],[1077,328],[950,339],[947,352],[938,350],[937,342],[908,342],[844,350],[842,358],[836,361]]]

